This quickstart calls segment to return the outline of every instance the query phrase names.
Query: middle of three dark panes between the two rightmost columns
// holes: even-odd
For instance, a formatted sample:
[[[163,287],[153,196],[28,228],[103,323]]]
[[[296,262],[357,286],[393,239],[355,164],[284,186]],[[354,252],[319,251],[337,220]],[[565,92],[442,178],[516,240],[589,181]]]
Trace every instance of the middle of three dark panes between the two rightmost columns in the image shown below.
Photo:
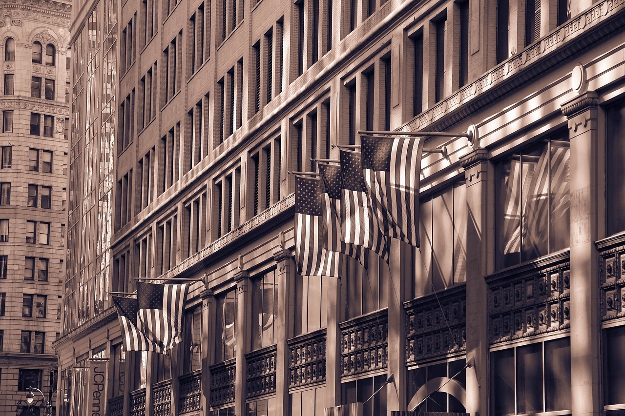
[[[542,412],[542,344],[516,349],[517,412]]]

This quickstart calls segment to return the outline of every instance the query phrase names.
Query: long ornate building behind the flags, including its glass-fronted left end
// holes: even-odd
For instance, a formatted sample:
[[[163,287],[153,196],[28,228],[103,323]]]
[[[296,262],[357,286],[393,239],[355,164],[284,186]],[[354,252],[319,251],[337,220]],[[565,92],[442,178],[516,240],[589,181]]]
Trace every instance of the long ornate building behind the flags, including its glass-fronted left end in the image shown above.
[[[624,1],[79,3],[59,414],[622,414]],[[358,130],[476,134],[420,249],[299,276],[289,172]],[[109,291],[202,277],[123,351]]]

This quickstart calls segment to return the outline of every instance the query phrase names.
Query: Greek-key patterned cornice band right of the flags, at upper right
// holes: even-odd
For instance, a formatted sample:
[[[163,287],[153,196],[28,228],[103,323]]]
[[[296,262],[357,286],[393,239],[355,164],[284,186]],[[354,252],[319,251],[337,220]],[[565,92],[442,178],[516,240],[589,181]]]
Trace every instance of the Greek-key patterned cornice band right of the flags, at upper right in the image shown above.
[[[510,57],[411,121],[400,131],[446,131],[520,87],[536,81],[587,47],[625,29],[625,0],[604,0]]]

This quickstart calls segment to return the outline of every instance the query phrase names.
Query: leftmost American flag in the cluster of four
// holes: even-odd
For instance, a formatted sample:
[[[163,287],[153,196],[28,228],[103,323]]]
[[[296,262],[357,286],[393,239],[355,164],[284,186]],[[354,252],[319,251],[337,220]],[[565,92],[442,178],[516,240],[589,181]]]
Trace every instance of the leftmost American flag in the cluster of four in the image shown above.
[[[318,178],[295,177],[295,260],[302,276],[339,277],[341,255],[322,244],[323,209]]]

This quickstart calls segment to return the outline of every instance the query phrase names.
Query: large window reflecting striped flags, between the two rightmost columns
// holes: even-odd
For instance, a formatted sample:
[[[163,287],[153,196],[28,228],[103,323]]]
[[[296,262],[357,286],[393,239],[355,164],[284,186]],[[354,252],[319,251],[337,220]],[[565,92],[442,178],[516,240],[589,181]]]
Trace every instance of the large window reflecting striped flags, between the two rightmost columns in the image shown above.
[[[569,247],[568,131],[496,165],[496,267]]]

